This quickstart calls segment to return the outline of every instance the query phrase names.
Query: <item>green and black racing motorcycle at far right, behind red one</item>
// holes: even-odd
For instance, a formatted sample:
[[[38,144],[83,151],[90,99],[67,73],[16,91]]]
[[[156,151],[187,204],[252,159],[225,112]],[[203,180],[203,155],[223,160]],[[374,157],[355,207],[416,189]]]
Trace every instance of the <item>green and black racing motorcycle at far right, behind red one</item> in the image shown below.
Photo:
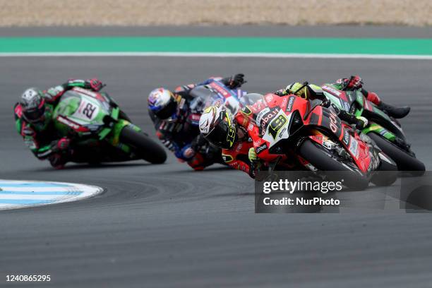
[[[331,85],[323,85],[325,97],[342,109],[356,116],[364,116],[369,123],[362,133],[367,134],[386,155],[392,158],[401,171],[424,172],[424,164],[416,159],[400,123],[366,100],[358,91],[342,91]]]

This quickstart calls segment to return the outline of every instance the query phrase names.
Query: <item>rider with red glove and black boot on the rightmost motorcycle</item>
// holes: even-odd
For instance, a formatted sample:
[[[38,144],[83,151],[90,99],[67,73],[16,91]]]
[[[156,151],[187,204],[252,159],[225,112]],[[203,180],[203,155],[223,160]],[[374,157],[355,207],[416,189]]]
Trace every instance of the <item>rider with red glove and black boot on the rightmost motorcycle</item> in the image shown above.
[[[364,89],[363,80],[358,75],[351,76],[350,78],[340,78],[336,80],[335,83],[326,85],[330,85],[333,88],[342,91],[359,90],[367,100],[371,101],[373,104],[376,104],[378,108],[385,111],[389,116],[392,116],[395,119],[404,118],[404,116],[408,115],[411,109],[410,107],[394,107],[390,104],[386,104],[380,99],[380,97],[378,97],[375,92],[368,92]]]

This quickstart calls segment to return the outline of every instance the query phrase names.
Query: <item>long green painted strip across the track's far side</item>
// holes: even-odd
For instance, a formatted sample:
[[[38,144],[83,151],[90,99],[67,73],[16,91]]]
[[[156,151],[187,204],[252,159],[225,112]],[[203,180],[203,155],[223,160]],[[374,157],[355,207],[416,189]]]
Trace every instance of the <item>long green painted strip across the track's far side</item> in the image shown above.
[[[432,39],[0,37],[0,53],[13,52],[246,52],[432,55]]]

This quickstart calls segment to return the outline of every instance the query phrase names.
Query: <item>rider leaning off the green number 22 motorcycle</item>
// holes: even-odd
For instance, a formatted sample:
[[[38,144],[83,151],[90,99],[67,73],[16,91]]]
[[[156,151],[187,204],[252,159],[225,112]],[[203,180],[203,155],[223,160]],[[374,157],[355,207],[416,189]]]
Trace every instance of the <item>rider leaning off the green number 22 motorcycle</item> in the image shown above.
[[[52,167],[61,169],[71,153],[71,139],[59,138],[54,128],[52,114],[59,98],[72,88],[92,91],[102,89],[102,82],[96,78],[88,80],[71,79],[48,90],[28,88],[13,108],[16,129],[25,144],[39,160],[48,159]]]

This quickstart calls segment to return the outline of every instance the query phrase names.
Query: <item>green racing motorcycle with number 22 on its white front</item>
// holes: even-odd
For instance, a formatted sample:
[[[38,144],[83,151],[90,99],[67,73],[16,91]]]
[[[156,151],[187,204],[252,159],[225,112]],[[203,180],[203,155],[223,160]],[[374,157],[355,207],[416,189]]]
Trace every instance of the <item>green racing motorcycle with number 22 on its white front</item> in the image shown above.
[[[71,138],[71,162],[122,162],[143,159],[165,162],[164,149],[120,109],[106,92],[73,88],[61,96],[54,109],[59,136]]]

